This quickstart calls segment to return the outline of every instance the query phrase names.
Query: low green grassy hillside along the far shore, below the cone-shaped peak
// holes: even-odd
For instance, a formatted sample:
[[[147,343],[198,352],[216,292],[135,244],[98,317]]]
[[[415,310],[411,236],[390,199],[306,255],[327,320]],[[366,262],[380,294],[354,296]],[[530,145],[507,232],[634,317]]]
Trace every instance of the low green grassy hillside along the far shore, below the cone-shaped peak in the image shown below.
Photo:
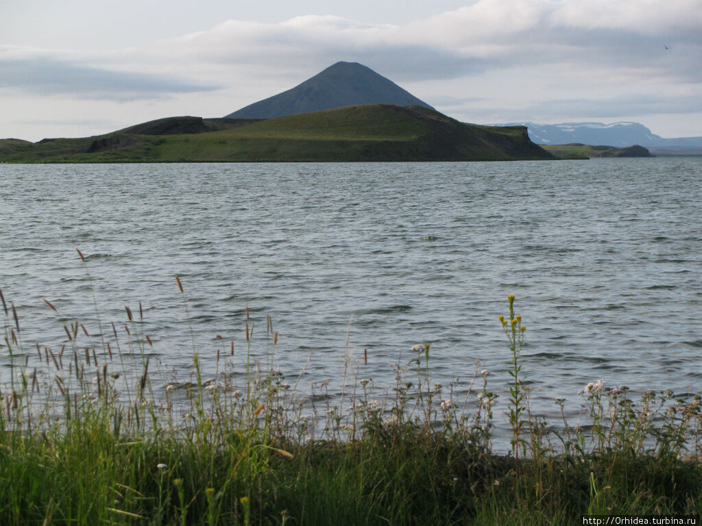
[[[0,161],[30,163],[516,159],[553,157],[523,127],[469,125],[432,109],[388,104],[265,121],[173,117],[98,137],[0,141]]]

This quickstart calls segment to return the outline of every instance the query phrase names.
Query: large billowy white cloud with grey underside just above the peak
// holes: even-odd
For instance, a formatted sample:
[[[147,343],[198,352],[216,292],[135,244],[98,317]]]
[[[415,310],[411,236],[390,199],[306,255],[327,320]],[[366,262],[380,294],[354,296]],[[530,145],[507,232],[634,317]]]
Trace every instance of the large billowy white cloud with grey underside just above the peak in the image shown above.
[[[648,75],[651,62],[665,58],[664,44],[682,58],[656,64],[666,75],[687,79],[700,69],[702,0],[597,1],[603,5],[590,13],[581,0],[479,0],[406,25],[319,15],[277,24],[230,20],[157,47],[183,60],[267,70],[281,79],[337,60],[357,60],[400,81],[555,63],[624,65]]]

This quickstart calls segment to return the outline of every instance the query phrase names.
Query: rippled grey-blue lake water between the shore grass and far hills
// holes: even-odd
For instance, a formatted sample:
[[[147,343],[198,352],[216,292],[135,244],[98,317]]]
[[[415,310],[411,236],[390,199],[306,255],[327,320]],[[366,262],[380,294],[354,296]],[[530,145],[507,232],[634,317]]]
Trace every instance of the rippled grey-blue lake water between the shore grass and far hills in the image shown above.
[[[391,364],[430,342],[437,382],[465,391],[479,360],[503,414],[497,316],[514,294],[540,414],[557,396],[575,412],[598,379],[701,391],[702,158],[0,165],[0,210],[0,289],[30,365],[74,319],[99,345],[93,290],[121,338],[141,302],[147,352],[181,379],[194,348],[211,374],[232,340],[243,367],[248,308],[255,358],[269,315],[275,367],[294,381],[312,354],[301,390],[340,392],[345,355],[390,389]],[[0,344],[0,385],[9,365]]]

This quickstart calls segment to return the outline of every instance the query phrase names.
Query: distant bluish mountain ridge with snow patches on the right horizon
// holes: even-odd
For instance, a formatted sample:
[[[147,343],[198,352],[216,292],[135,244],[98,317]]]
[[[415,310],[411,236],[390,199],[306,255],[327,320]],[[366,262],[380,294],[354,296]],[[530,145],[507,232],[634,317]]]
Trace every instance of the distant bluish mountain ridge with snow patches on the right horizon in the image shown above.
[[[655,135],[646,126],[635,122],[611,124],[580,122],[562,124],[510,123],[504,126],[527,126],[529,137],[537,144],[571,144],[580,142],[597,146],[607,144],[628,147],[638,144],[647,148],[699,148],[702,137],[680,137],[664,139]]]

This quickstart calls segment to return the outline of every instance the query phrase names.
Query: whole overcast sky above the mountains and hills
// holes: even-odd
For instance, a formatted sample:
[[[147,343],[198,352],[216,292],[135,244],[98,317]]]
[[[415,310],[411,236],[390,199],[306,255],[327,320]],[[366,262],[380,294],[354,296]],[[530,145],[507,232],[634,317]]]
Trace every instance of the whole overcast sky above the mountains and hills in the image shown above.
[[[224,116],[339,60],[465,122],[702,136],[702,0],[0,0],[0,138]]]

